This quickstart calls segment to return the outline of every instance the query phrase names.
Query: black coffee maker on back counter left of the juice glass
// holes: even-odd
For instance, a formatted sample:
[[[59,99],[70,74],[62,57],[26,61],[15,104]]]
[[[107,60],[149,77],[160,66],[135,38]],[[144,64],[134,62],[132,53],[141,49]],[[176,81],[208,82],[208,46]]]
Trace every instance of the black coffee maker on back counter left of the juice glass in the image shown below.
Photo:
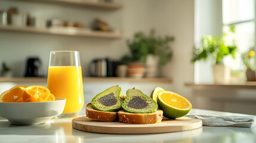
[[[42,66],[38,57],[27,58],[25,77],[39,77],[39,68]]]

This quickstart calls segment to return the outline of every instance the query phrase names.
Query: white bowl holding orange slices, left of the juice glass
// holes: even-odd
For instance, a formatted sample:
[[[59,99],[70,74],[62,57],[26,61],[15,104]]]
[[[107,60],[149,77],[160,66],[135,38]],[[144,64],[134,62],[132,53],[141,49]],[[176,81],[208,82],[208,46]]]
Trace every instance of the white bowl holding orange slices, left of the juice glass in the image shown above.
[[[0,102],[0,117],[14,125],[46,123],[64,110],[66,99],[55,98],[47,102]]]

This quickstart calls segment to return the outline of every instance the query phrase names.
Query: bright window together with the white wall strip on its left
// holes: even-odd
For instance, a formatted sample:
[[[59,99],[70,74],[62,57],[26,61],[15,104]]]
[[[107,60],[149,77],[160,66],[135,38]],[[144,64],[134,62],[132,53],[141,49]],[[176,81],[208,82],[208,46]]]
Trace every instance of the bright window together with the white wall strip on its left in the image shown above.
[[[229,26],[235,26],[235,33]],[[220,36],[227,33],[226,41],[235,39],[238,46],[236,59],[224,58],[232,70],[244,71],[242,54],[255,46],[255,0],[195,0],[195,45],[202,36]],[[214,82],[211,59],[198,61],[194,66],[195,83]]]

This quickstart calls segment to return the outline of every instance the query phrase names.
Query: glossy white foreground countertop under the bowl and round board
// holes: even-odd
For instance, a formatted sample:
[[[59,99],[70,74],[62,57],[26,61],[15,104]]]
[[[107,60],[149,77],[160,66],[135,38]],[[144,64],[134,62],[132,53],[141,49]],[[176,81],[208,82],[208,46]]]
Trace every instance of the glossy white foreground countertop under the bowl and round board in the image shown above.
[[[190,114],[239,115],[194,108]],[[0,118],[0,142],[256,142],[256,128],[203,126],[184,132],[112,135],[73,129],[71,120],[53,119],[42,125],[16,126]]]

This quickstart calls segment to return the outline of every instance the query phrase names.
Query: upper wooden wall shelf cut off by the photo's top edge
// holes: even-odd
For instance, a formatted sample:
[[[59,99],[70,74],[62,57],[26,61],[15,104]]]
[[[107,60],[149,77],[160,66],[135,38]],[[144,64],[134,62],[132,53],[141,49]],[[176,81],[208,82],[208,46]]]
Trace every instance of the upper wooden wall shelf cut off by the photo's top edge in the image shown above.
[[[86,0],[21,0],[21,1],[42,2],[42,3],[48,3],[48,4],[68,5],[68,6],[75,6],[75,7],[101,8],[106,10],[117,10],[123,7],[122,4],[118,4],[114,2],[92,2],[92,1],[86,1]]]

